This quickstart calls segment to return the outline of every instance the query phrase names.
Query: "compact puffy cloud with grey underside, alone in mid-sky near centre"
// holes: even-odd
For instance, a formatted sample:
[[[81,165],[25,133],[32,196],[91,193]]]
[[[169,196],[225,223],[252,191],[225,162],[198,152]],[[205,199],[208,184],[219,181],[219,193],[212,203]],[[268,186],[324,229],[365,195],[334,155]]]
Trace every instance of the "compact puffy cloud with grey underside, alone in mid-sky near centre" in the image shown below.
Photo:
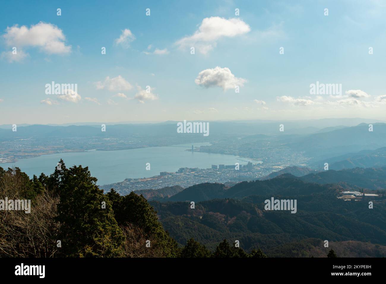
[[[243,87],[245,82],[247,82],[247,80],[235,77],[229,68],[221,68],[219,66],[201,71],[195,80],[197,85],[205,88],[218,86],[224,91],[234,89],[235,86]]]

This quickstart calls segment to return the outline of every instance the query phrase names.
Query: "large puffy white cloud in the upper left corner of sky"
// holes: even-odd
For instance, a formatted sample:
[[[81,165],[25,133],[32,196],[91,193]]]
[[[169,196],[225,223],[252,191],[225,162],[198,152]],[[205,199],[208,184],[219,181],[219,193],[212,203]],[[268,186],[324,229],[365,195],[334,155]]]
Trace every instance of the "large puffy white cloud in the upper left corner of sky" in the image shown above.
[[[65,54],[71,52],[71,46],[64,43],[66,37],[57,26],[39,22],[36,25],[7,27],[3,35],[7,46],[16,47],[18,53],[22,48],[37,47],[48,54]]]

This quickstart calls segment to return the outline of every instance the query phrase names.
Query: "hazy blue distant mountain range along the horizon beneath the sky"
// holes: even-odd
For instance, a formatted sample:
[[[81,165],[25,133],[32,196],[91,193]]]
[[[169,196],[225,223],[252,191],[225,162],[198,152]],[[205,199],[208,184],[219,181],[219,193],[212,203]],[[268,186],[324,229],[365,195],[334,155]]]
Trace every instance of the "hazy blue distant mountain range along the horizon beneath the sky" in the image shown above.
[[[220,134],[242,134],[254,135],[258,134],[300,134],[309,135],[313,133],[325,133],[331,130],[343,129],[345,127],[355,126],[364,121],[369,123],[384,122],[379,120],[368,120],[362,118],[337,118],[337,119],[310,119],[310,120],[248,120],[248,121],[210,121],[210,133],[213,135]],[[123,133],[137,133],[137,134],[175,134],[176,124],[179,121],[165,121],[165,122],[78,122],[66,124],[17,124],[20,135],[53,135],[65,133],[66,135],[73,135],[84,137],[85,135],[102,135],[101,133],[93,132],[93,128],[100,128],[101,124],[109,126],[112,131],[111,135],[118,137],[124,136]],[[284,124],[284,133],[279,133],[279,124]],[[340,126],[336,126],[340,124]],[[68,128],[68,129],[67,129]],[[0,135],[7,134],[12,129],[12,124],[0,125]],[[3,130],[7,130],[3,132]],[[94,129],[95,130],[95,129]],[[86,131],[83,133],[83,131]],[[118,131],[118,132],[114,132]],[[152,132],[150,132],[152,131]],[[8,135],[9,136],[9,135]],[[12,137],[12,136],[10,136]]]

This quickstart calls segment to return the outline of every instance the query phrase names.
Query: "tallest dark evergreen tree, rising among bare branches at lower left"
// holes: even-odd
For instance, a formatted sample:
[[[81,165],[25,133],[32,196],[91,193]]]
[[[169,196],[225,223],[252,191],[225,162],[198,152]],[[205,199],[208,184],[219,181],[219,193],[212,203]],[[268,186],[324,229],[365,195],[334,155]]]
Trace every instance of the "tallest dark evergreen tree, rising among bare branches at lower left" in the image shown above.
[[[49,183],[60,193],[59,240],[65,256],[116,257],[122,253],[122,230],[110,201],[96,182],[88,167],[66,169],[64,163],[50,176]]]

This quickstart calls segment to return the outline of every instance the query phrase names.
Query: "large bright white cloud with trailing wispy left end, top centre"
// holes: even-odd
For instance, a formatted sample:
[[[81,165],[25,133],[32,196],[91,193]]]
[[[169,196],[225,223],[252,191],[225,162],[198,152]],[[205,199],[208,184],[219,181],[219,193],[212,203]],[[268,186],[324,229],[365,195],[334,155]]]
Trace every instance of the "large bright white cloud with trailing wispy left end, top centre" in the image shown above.
[[[251,31],[248,24],[238,18],[224,19],[210,17],[202,20],[200,27],[191,36],[179,39],[176,44],[180,48],[194,46],[198,52],[207,54],[217,45],[222,37],[235,37]]]

